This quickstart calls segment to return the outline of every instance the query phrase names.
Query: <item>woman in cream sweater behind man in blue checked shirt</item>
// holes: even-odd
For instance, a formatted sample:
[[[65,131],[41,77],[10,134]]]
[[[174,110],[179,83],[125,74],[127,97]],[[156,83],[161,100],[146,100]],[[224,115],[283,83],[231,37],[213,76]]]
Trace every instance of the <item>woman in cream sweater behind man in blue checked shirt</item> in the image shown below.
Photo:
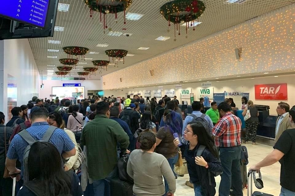
[[[77,145],[77,142],[75,139],[75,134],[71,130],[68,130],[65,128],[64,122],[61,118],[61,115],[58,112],[50,112],[49,113],[48,124],[65,130],[65,133],[68,134],[69,138],[73,141],[73,143],[75,145],[76,154],[74,156],[71,156],[70,158],[68,158],[67,162],[64,164],[65,171],[68,171],[73,168],[73,165],[77,161],[78,156],[79,156],[79,149],[78,149],[78,145]]]

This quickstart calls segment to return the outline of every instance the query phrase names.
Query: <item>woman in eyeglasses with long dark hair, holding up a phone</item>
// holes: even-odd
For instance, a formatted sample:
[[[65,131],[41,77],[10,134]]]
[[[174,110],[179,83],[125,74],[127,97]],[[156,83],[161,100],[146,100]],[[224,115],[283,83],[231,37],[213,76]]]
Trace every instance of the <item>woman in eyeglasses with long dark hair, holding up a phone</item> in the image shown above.
[[[214,174],[209,172],[222,172],[222,165],[219,160],[218,150],[214,140],[207,133],[200,122],[187,124],[184,130],[185,145],[184,157],[187,161],[187,170],[192,183],[194,184],[195,196],[214,196],[216,193]],[[179,145],[177,139],[175,146]],[[196,156],[200,145],[205,146],[202,156]]]

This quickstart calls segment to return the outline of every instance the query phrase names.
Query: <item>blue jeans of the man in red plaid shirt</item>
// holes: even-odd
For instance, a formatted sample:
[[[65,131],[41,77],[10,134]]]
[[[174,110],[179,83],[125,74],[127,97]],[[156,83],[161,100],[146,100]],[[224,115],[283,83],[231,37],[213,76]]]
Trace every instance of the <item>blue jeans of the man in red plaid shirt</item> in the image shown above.
[[[219,196],[228,196],[230,188],[235,196],[242,196],[241,176],[241,145],[235,147],[219,148],[220,161],[223,168],[219,185]]]

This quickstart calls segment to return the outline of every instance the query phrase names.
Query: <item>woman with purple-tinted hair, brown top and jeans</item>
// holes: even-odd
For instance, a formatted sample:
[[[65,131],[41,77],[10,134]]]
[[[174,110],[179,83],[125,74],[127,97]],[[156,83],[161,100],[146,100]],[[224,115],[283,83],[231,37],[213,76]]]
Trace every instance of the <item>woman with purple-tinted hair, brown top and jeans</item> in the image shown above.
[[[179,121],[177,120],[176,112],[173,110],[165,110],[163,121],[165,126],[160,127],[156,135],[157,153],[162,154],[168,160],[168,163],[174,173],[175,178],[177,175],[174,172],[174,165],[178,160],[178,147],[174,145],[173,134],[177,133],[181,137],[182,129]],[[167,180],[164,178],[166,193],[169,192]]]

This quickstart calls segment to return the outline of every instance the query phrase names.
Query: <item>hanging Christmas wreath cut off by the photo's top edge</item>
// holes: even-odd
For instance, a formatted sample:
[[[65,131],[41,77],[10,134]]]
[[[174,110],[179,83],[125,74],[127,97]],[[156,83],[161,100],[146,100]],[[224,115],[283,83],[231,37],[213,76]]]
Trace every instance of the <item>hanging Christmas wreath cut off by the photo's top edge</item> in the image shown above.
[[[84,0],[90,10],[100,13],[119,13],[126,11],[131,5],[132,0],[112,0],[110,4],[105,4],[101,0]],[[92,16],[90,16],[92,17]]]

